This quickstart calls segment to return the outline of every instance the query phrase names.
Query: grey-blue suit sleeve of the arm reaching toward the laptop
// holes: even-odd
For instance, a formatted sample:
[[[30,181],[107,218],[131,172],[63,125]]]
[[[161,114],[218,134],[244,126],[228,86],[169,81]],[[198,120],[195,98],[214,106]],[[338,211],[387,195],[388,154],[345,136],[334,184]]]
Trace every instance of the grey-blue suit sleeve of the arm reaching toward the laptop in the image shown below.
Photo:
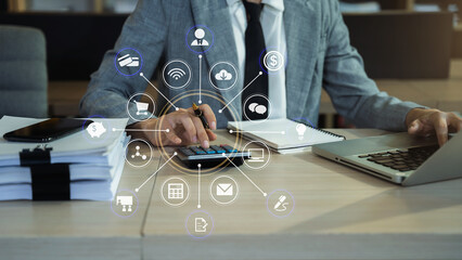
[[[406,131],[406,115],[410,109],[422,106],[378,91],[365,74],[361,56],[350,46],[338,1],[329,3],[323,87],[335,109],[357,127]]]

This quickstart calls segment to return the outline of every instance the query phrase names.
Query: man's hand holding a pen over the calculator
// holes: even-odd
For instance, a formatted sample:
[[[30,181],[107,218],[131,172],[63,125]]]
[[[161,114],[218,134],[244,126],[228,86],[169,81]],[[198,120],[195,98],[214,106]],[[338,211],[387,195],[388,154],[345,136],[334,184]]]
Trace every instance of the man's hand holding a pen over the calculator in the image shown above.
[[[162,132],[142,131],[139,134],[133,134],[134,138],[146,139],[157,146],[189,145],[200,142],[202,147],[208,148],[209,142],[217,139],[217,135],[211,132],[211,130],[217,129],[217,119],[208,105],[201,105],[200,108],[204,113],[210,129],[204,128],[192,107],[188,109],[180,108],[159,118],[137,122],[131,125],[130,128],[144,130],[168,129],[168,131]]]

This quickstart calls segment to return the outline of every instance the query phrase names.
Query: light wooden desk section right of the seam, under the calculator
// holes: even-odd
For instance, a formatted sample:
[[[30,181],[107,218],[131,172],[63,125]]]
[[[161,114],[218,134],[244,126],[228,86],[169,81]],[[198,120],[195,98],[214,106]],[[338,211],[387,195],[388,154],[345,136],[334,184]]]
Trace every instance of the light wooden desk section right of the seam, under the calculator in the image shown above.
[[[376,130],[338,130],[347,136]],[[230,143],[220,134],[219,143]],[[202,177],[202,208],[214,218],[213,234],[190,237],[187,216],[197,209],[197,177],[166,166],[156,177],[143,229],[143,259],[455,259],[462,256],[462,180],[402,188],[311,153],[271,155],[264,170],[241,169],[267,193],[285,188],[295,210],[271,216],[266,198],[235,168],[219,174],[240,185],[231,205],[215,204]],[[182,177],[191,185],[190,200],[167,206],[163,182]]]

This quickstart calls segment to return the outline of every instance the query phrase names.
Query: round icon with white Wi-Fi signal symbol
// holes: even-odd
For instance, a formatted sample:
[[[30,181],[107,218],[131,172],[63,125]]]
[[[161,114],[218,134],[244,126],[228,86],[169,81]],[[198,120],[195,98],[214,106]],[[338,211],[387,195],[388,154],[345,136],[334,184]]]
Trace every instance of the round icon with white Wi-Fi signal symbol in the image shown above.
[[[174,60],[165,64],[162,78],[167,87],[178,90],[191,83],[192,70],[187,62]]]

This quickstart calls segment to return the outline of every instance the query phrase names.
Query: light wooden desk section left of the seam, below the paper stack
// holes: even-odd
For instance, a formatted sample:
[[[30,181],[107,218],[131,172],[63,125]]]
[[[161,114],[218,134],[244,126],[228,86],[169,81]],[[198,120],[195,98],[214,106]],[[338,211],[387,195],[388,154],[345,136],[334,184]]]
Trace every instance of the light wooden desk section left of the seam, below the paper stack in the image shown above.
[[[133,191],[158,167],[126,164],[119,190]],[[153,181],[137,194],[138,211],[123,219],[110,202],[0,202],[0,259],[140,259],[141,230]]]

